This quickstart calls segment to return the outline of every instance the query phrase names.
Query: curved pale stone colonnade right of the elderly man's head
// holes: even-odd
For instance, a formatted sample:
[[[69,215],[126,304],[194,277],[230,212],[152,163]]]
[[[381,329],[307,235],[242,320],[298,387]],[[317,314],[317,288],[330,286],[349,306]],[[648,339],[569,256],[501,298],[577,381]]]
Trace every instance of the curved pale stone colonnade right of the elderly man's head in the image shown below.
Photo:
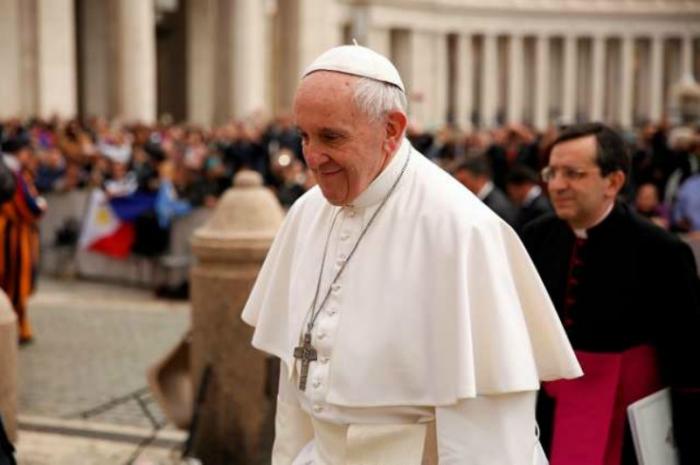
[[[387,39],[389,38],[389,39]],[[696,35],[371,31],[407,82],[414,120],[492,127],[659,121],[670,91],[695,79]],[[449,108],[448,108],[449,107]]]

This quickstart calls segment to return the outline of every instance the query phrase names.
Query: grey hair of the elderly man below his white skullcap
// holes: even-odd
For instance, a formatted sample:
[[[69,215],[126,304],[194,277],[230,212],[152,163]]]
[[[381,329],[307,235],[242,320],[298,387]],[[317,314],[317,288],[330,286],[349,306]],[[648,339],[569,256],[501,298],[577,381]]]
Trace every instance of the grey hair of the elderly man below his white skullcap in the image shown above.
[[[370,120],[380,121],[390,111],[408,109],[406,94],[398,87],[370,78],[360,78],[355,84],[353,100]]]

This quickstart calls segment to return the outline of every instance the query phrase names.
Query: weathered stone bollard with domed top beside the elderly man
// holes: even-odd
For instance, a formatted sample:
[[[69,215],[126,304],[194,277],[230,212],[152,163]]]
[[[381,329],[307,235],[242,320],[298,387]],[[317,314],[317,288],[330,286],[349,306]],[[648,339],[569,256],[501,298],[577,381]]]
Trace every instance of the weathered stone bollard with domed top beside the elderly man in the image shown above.
[[[195,386],[211,367],[194,444],[194,455],[205,464],[265,463],[269,453],[276,384],[268,375],[277,379],[277,373],[252,347],[253,328],[241,311],[282,218],[260,175],[242,171],[192,240]]]

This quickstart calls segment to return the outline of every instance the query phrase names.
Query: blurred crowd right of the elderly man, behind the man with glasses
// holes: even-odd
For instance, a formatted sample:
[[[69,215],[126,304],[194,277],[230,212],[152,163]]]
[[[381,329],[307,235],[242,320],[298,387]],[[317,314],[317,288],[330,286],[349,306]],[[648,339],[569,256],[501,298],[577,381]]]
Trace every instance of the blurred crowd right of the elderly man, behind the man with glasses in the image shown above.
[[[489,188],[489,199],[482,200],[517,229],[533,219],[524,208],[536,203],[536,213],[549,210],[540,203],[546,197],[540,172],[558,132],[508,125],[469,134],[443,128],[410,138],[475,194]],[[623,200],[665,229],[700,231],[700,129],[649,123],[620,133],[632,159]]]

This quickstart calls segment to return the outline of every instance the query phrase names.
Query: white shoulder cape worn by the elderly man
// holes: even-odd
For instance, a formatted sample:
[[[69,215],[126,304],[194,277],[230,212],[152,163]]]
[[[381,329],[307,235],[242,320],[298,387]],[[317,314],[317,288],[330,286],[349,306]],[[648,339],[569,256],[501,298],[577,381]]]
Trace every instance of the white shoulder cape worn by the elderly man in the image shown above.
[[[289,373],[336,208],[318,188],[296,202],[243,310]],[[329,403],[451,405],[582,374],[515,232],[415,150],[343,282]]]

